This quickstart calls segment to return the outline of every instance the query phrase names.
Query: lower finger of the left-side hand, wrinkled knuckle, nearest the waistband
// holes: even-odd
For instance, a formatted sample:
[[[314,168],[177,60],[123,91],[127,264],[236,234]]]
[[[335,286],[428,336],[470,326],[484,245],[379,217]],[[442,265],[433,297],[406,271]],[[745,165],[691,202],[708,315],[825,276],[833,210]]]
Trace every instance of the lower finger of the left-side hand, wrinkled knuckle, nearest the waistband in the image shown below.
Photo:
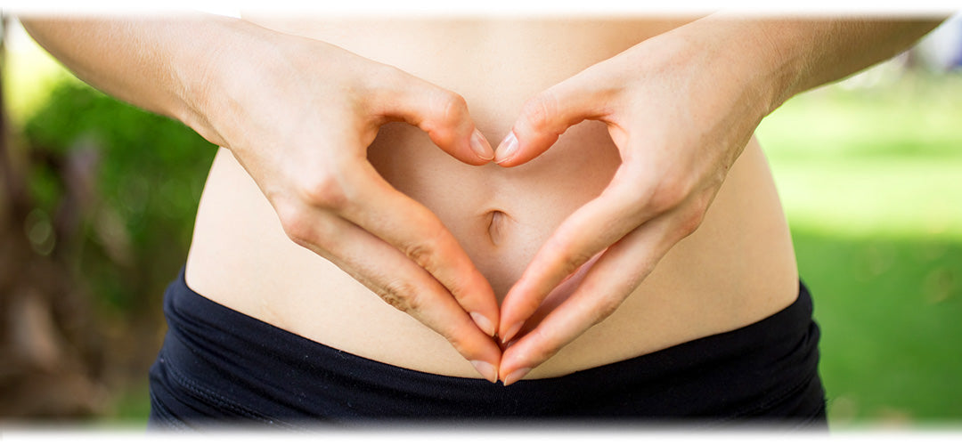
[[[292,238],[443,337],[496,382],[500,348],[431,275],[377,236],[323,210],[300,213]]]

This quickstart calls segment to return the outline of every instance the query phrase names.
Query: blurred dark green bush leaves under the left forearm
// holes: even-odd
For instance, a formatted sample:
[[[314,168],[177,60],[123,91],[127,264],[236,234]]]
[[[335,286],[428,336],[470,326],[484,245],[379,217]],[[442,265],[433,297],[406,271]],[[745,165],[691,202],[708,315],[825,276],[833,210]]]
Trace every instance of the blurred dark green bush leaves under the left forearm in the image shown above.
[[[76,258],[102,309],[159,308],[159,293],[186,259],[193,215],[215,147],[183,124],[75,82],[53,87],[24,125],[34,156],[91,149],[95,195]],[[65,185],[34,162],[31,191],[54,214]]]

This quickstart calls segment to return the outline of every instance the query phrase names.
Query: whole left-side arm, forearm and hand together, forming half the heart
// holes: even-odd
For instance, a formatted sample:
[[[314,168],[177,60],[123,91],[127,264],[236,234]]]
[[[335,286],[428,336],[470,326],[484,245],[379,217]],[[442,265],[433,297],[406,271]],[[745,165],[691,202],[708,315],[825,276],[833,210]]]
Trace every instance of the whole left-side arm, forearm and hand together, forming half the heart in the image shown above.
[[[82,79],[231,150],[292,240],[447,338],[494,381],[497,302],[430,210],[367,162],[380,125],[418,126],[473,165],[494,153],[463,98],[310,38],[225,17],[22,20]]]

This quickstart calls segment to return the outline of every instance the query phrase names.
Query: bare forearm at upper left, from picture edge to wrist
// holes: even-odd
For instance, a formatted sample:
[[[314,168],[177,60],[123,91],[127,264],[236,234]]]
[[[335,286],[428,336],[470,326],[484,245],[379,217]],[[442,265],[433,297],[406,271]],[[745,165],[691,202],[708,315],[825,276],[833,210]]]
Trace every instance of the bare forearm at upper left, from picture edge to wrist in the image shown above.
[[[181,120],[215,143],[207,122],[227,54],[266,51],[270,32],[214,15],[176,18],[20,17],[38,43],[85,82]]]

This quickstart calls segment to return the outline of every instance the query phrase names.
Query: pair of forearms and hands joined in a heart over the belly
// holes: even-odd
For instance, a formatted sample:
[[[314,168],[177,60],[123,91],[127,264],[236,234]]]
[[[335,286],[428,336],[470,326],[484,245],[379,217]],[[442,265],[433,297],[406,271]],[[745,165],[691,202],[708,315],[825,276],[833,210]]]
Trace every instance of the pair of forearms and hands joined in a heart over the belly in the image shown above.
[[[505,384],[608,317],[696,231],[765,115],[897,54],[937,24],[697,20],[533,96],[492,150],[457,93],[317,40],[223,18],[24,22],[92,85],[230,148],[286,235]],[[607,126],[620,166],[547,238],[500,308],[439,218],[365,157],[380,125],[403,121],[458,161],[520,168],[585,119]],[[520,330],[593,258],[570,296]],[[494,334],[508,342],[503,352]]]

